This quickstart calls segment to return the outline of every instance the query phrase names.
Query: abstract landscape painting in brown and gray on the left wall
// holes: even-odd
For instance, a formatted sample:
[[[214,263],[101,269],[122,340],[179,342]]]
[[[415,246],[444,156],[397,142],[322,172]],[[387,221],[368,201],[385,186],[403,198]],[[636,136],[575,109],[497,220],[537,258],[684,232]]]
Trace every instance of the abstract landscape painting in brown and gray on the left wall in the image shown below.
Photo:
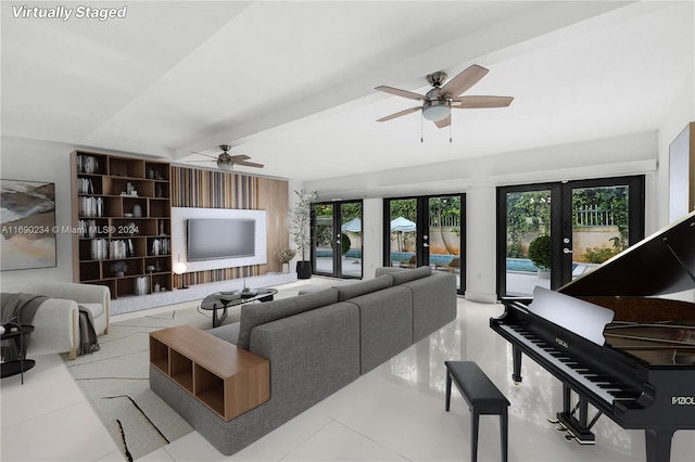
[[[0,180],[0,229],[2,271],[55,267],[55,183]]]

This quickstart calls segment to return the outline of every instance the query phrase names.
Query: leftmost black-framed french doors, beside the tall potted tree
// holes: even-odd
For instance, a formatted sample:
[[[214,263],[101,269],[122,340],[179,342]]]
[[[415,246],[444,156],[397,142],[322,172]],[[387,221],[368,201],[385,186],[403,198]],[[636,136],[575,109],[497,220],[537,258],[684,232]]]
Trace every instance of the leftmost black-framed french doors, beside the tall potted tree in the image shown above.
[[[362,201],[319,202],[312,214],[314,274],[362,278]]]

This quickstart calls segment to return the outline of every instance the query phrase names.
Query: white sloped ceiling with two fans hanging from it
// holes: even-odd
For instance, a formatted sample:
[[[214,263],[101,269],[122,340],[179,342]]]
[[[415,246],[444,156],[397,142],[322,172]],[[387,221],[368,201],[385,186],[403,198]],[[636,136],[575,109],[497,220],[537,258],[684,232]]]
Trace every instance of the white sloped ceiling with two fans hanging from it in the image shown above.
[[[692,1],[122,1],[123,20],[2,2],[2,136],[309,181],[656,130],[693,72]],[[28,3],[26,3],[28,4]],[[38,2],[42,8],[72,2]],[[450,129],[379,85],[479,64]],[[452,142],[450,143],[450,134]],[[425,142],[420,142],[420,137]],[[214,167],[214,163],[194,163]]]

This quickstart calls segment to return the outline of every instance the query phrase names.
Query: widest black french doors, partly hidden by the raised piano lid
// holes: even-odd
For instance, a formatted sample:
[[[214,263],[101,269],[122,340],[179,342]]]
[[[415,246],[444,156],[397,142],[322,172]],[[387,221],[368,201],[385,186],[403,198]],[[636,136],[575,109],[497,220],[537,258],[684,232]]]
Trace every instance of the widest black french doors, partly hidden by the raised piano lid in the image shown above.
[[[644,238],[644,177],[497,189],[497,294],[558,288]]]

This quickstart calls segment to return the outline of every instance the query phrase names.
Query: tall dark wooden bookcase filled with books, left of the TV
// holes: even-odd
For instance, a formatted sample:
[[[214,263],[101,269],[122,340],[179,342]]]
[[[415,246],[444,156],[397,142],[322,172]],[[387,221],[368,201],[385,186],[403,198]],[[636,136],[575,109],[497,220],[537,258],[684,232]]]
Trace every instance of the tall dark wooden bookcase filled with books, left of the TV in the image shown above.
[[[71,162],[73,280],[108,285],[113,298],[172,290],[169,164],[88,151]]]

